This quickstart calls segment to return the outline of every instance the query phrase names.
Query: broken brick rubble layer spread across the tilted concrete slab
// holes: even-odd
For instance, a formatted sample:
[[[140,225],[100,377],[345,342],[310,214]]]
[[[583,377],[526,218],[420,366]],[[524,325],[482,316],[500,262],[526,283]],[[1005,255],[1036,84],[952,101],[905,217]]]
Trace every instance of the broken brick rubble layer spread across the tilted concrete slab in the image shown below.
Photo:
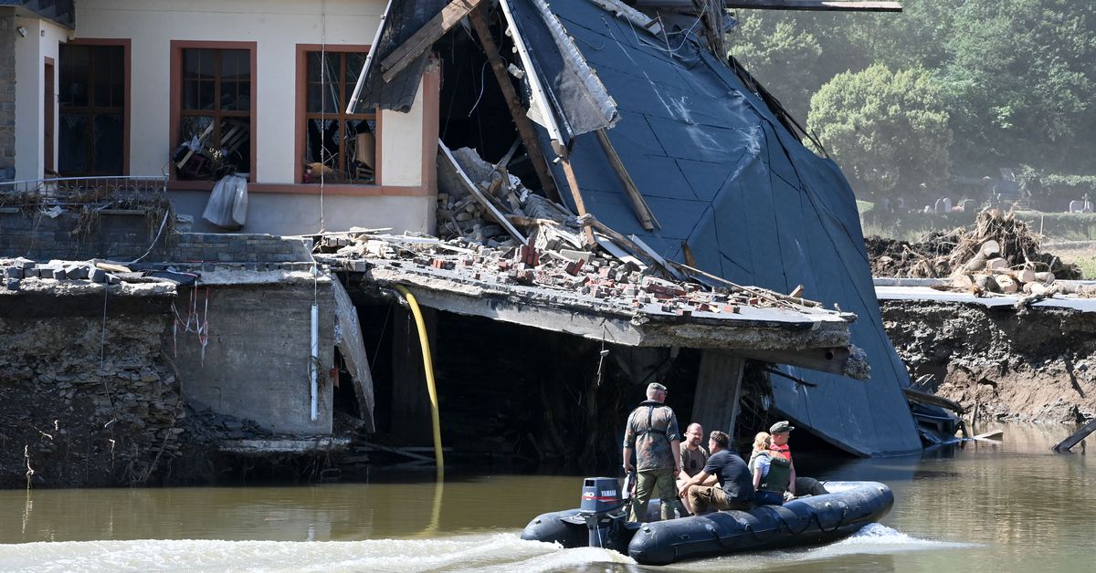
[[[690,280],[696,276],[671,262],[662,261],[660,266],[632,254],[583,248],[580,232],[552,221],[540,220],[529,228],[529,244],[513,247],[351,231],[321,238],[317,252],[334,256],[318,254],[317,260],[362,272],[380,264],[419,268],[454,284],[527,287],[534,298],[549,305],[625,314],[719,318],[746,306],[797,312],[818,307],[810,300],[741,287],[699,272],[695,273],[707,284]]]

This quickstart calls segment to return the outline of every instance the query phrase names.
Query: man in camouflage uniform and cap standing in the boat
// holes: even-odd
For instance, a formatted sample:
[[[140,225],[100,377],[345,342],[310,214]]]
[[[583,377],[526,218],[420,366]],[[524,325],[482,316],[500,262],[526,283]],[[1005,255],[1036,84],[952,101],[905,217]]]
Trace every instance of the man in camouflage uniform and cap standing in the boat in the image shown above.
[[[631,411],[624,432],[624,469],[638,469],[636,498],[631,504],[629,519],[640,522],[647,516],[647,505],[654,489],[659,489],[662,501],[662,518],[674,517],[677,507],[677,489],[674,478],[682,470],[681,436],[677,416],[665,405],[666,387],[651,382],[647,387],[647,400]],[[631,465],[631,454],[636,452],[636,466]],[[684,515],[684,511],[682,512]]]

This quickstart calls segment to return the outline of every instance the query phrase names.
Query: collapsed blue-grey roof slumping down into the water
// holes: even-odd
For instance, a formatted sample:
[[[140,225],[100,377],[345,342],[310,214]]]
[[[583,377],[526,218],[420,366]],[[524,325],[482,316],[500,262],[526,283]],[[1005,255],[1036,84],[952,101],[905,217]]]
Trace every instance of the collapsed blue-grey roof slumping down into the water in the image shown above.
[[[665,260],[778,293],[802,285],[855,312],[852,342],[869,357],[869,380],[784,367],[820,383],[774,379],[775,408],[857,455],[920,450],[902,392],[909,375],[883,331],[837,165],[804,148],[764,90],[705,46],[704,26],[663,27],[617,0],[500,5],[517,51],[511,73],[541,126],[552,179],[571,191],[560,193],[568,206]]]

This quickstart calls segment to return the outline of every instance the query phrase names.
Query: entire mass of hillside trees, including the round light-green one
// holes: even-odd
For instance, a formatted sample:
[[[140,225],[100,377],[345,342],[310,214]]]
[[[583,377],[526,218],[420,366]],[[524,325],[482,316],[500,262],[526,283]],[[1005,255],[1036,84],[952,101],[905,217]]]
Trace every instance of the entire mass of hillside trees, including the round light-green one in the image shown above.
[[[1092,161],[1096,2],[903,0],[902,4],[902,13],[741,10],[740,26],[731,36],[732,55],[794,114],[809,118],[835,159],[846,171],[856,172],[858,191],[867,180],[860,175],[863,169],[853,165],[903,161],[901,154],[880,152],[880,142],[891,137],[889,130],[902,122],[935,123],[941,112],[954,134],[950,140],[907,135],[892,146],[906,148],[909,161],[937,161],[938,171],[952,168],[952,174],[971,177],[1020,164],[1042,173],[1096,172]],[[892,85],[880,83],[888,78]],[[910,81],[927,91],[888,100],[878,107],[884,117],[857,123],[861,147],[849,145],[848,129],[841,124],[857,112],[872,111],[857,102],[872,93],[894,98],[899,82]],[[827,90],[833,82],[841,87]],[[849,88],[860,93],[836,93]],[[842,103],[856,110],[834,113],[831,107]],[[871,129],[878,133],[863,134]],[[929,131],[938,134],[935,128]],[[946,149],[936,149],[940,145]],[[884,171],[904,174],[924,169],[894,164]],[[876,193],[904,185],[889,177],[874,184]]]

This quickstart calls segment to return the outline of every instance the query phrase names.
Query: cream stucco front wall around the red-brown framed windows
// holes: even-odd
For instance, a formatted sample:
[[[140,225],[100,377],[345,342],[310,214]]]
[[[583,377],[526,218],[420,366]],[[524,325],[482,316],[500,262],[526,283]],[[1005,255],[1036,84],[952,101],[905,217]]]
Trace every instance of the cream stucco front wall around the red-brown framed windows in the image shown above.
[[[130,163],[134,175],[161,172],[171,148],[171,41],[256,43],[256,150],[253,180],[294,183],[297,44],[373,42],[381,0],[84,0],[77,37],[132,38]],[[323,10],[324,12],[321,12]],[[410,114],[381,119],[381,183],[422,184],[422,98]],[[409,157],[409,151],[416,157]],[[391,158],[391,159],[389,159]]]

